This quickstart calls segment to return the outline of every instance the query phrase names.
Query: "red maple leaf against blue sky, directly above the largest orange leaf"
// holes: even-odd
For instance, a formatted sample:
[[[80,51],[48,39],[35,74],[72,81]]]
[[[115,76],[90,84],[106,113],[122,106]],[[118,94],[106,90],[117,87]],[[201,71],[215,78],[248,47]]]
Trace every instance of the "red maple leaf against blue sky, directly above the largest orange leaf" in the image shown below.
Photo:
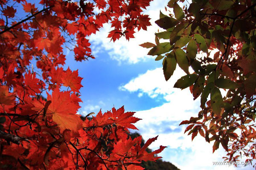
[[[83,78],[78,76],[78,70],[71,71],[68,67],[66,72],[62,74],[62,82],[65,87],[70,87],[73,92],[79,92],[79,89],[83,87],[81,85],[81,80]]]

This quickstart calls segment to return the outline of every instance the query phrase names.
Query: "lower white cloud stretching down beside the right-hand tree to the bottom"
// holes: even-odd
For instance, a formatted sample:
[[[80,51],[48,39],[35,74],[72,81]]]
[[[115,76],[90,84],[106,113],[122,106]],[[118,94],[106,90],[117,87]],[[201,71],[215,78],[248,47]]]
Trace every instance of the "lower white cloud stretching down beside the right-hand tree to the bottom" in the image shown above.
[[[222,156],[226,156],[221,146],[212,154],[212,142],[207,143],[199,134],[192,142],[191,135],[183,134],[186,125],[179,126],[179,123],[191,116],[198,115],[200,98],[194,101],[188,88],[184,90],[173,88],[182,74],[184,72],[177,68],[171,79],[166,82],[162,68],[156,68],[148,70],[145,74],[139,75],[119,88],[122,91],[148,95],[151,98],[163,95],[164,99],[168,101],[159,107],[135,113],[136,117],[142,119],[135,126],[145,140],[159,135],[157,141],[150,147],[157,149],[160,145],[168,146],[160,153],[160,156],[180,169],[234,170],[233,166],[212,165],[213,161],[223,161]]]

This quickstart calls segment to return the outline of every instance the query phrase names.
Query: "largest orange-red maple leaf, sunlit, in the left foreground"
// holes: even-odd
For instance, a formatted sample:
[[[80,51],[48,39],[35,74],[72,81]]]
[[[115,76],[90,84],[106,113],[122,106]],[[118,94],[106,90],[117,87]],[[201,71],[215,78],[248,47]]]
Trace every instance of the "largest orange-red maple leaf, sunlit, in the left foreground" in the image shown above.
[[[57,123],[61,132],[65,129],[79,130],[81,119],[76,112],[80,106],[70,101],[70,92],[60,92],[56,88],[52,95],[48,94],[47,100],[52,101],[47,109],[47,114],[52,115],[52,120]]]

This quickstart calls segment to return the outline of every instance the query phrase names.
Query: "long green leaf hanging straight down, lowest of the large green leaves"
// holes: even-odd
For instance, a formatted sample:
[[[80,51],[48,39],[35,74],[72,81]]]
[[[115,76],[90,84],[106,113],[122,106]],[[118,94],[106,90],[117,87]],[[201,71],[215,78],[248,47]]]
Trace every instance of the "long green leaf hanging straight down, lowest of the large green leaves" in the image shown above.
[[[221,116],[222,102],[223,102],[223,99],[221,96],[221,91],[217,87],[214,87],[211,91],[211,108],[212,108],[212,111],[217,116]]]

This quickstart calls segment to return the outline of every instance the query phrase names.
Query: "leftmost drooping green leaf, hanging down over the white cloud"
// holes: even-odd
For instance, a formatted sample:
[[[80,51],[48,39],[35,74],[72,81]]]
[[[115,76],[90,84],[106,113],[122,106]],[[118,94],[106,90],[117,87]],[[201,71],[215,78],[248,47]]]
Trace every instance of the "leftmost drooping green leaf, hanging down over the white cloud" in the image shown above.
[[[174,52],[172,51],[167,55],[163,64],[163,74],[166,81],[172,76],[173,72],[176,69],[176,59],[174,57]]]

